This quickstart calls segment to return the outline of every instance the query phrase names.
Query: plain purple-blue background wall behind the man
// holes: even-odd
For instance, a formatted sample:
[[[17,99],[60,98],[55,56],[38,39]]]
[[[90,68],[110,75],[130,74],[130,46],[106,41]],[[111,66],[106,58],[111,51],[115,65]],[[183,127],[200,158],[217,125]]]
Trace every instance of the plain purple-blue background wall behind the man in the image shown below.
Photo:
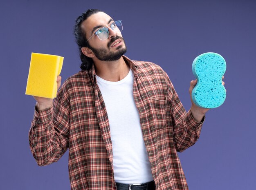
[[[70,189],[67,153],[39,167],[29,150],[36,102],[25,88],[31,52],[64,56],[63,81],[79,72],[73,27],[89,8],[123,21],[126,56],[160,65],[186,110],[194,58],[204,52],[225,58],[226,101],[207,113],[199,141],[179,156],[190,190],[255,189],[253,0],[1,0],[0,189]]]

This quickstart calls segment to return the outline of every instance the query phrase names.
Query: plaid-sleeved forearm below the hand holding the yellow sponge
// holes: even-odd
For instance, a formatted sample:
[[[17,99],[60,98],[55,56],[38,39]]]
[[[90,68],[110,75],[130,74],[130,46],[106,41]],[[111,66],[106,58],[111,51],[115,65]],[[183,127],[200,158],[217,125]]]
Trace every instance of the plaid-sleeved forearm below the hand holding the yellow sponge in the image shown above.
[[[60,141],[58,136],[60,134],[54,128],[53,107],[35,110],[29,130],[29,145],[38,165],[56,162],[64,154],[68,141]]]

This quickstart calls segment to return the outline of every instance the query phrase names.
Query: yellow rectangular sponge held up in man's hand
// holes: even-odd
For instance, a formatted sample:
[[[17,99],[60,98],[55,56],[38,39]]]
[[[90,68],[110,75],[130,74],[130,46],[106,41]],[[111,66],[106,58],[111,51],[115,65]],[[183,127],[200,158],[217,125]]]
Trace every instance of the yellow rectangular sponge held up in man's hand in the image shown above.
[[[61,73],[64,57],[49,54],[31,53],[27,95],[55,98],[57,76]]]

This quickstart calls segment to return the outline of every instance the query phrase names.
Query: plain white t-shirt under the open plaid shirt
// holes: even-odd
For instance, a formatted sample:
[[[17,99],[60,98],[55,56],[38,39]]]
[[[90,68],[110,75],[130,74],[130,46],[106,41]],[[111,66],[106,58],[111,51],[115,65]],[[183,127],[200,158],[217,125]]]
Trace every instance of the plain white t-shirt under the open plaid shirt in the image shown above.
[[[133,73],[117,82],[97,77],[108,112],[115,181],[146,183],[153,176],[133,98]]]

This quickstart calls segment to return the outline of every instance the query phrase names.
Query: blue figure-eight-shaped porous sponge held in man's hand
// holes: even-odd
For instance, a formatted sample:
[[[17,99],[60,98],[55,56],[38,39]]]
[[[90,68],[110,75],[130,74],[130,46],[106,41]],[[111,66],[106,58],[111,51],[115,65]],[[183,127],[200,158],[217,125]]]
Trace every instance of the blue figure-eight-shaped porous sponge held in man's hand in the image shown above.
[[[215,108],[224,103],[226,89],[222,76],[226,71],[225,59],[216,53],[204,53],[196,57],[192,71],[197,84],[192,90],[192,100],[199,107]]]

